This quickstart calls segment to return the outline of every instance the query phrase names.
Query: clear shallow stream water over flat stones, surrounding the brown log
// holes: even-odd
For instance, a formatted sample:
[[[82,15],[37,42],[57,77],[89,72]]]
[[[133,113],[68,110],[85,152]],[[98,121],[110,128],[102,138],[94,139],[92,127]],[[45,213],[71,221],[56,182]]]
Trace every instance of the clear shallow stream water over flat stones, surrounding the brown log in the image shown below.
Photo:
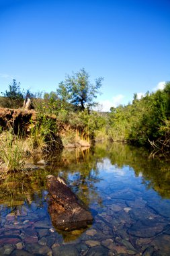
[[[170,167],[120,143],[64,151],[0,186],[0,255],[170,255]],[[64,177],[89,206],[86,230],[58,232],[46,176]]]

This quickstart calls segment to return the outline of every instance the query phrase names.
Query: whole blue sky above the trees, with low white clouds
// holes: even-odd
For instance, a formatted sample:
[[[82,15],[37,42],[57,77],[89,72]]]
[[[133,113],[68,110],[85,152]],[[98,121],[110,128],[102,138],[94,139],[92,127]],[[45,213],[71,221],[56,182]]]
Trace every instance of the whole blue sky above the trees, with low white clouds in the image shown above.
[[[104,110],[170,80],[169,0],[0,0],[0,92],[55,91],[82,67]]]

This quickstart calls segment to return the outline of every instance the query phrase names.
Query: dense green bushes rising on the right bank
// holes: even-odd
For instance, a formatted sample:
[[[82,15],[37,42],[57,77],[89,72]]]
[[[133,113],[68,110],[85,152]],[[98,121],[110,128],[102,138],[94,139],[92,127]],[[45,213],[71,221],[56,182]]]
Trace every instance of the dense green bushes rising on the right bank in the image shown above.
[[[165,121],[170,117],[170,84],[164,90],[147,92],[140,100],[134,94],[132,104],[111,108],[108,135],[113,140],[126,140],[138,146],[148,146],[165,135]]]

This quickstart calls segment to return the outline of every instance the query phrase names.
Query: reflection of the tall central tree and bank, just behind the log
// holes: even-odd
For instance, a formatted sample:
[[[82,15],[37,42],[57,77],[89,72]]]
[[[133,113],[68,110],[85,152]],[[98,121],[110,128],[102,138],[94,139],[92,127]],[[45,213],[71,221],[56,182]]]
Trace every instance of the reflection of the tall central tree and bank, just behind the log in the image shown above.
[[[93,150],[87,148],[64,150],[60,158],[53,156],[50,159],[46,170],[65,178],[78,197],[89,205],[92,201],[101,201],[95,189],[95,183],[99,182],[96,166],[96,156]]]

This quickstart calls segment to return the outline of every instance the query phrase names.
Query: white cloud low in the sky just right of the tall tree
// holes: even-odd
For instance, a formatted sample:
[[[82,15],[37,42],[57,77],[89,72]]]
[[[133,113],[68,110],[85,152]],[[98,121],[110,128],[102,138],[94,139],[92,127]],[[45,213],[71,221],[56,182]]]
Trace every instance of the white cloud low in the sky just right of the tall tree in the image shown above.
[[[99,104],[101,104],[101,110],[102,111],[110,111],[110,108],[112,106],[114,106],[116,108],[116,106],[120,105],[122,100],[124,98],[124,95],[122,94],[118,94],[114,97],[112,97],[112,100],[101,100],[99,102]]]

